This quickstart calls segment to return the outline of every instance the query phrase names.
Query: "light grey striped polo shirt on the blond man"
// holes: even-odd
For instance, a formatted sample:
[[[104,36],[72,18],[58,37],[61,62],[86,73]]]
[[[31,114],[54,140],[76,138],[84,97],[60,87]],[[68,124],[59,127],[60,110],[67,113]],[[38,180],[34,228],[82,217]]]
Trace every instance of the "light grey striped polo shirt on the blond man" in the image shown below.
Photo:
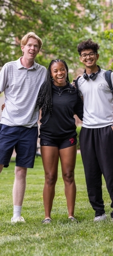
[[[38,126],[39,108],[35,109],[40,86],[47,79],[47,69],[34,63],[25,68],[20,57],[6,63],[0,72],[0,91],[5,93],[5,108],[1,124],[8,126]]]

